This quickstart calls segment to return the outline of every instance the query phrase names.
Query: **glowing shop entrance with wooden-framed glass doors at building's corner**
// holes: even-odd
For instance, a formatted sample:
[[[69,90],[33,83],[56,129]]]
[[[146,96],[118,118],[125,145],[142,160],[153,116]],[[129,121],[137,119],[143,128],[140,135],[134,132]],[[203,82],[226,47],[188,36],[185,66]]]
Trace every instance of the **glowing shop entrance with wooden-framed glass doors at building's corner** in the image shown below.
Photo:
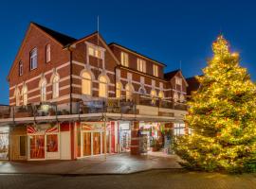
[[[97,156],[117,151],[116,122],[77,124],[77,157]]]

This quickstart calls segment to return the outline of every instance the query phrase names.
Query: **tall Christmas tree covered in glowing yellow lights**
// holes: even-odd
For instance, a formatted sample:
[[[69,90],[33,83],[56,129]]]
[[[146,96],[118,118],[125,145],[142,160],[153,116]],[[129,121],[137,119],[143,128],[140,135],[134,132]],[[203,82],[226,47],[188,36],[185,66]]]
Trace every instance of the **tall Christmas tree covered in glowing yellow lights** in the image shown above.
[[[199,170],[256,172],[256,87],[239,55],[219,36],[213,58],[197,77],[185,122],[192,135],[177,139],[183,165]]]

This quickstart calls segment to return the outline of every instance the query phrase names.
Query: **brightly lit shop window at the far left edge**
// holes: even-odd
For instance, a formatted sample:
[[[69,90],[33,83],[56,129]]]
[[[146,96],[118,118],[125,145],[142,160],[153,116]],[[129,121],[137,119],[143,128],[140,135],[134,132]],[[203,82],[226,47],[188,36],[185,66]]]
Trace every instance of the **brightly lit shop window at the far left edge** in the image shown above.
[[[0,127],[0,160],[9,160],[9,127]]]

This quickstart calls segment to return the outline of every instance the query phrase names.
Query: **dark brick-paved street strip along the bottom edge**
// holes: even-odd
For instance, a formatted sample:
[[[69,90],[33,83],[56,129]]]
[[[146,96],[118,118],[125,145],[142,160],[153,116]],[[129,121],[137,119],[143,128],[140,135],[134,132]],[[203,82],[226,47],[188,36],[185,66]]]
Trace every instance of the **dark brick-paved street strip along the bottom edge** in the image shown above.
[[[256,175],[157,170],[130,175],[0,175],[0,189],[256,189]]]

